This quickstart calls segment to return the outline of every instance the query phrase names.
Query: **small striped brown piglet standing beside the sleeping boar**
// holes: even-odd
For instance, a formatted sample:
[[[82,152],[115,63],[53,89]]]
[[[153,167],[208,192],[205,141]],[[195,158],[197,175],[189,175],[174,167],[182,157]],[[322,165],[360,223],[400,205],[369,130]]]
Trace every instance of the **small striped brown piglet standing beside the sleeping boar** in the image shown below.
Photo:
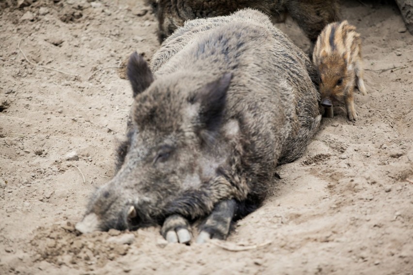
[[[357,120],[354,88],[367,94],[363,79],[360,34],[347,20],[329,24],[318,36],[313,63],[318,70],[321,106],[332,118],[334,100],[344,99],[350,121]]]

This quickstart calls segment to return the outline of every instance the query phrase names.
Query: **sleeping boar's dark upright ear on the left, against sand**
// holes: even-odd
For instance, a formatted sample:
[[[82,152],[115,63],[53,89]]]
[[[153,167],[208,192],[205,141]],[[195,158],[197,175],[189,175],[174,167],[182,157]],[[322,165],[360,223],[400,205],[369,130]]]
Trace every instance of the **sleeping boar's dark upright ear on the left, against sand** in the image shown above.
[[[133,97],[138,93],[145,91],[154,81],[148,63],[143,59],[142,55],[134,52],[127,62],[127,78],[132,85]]]

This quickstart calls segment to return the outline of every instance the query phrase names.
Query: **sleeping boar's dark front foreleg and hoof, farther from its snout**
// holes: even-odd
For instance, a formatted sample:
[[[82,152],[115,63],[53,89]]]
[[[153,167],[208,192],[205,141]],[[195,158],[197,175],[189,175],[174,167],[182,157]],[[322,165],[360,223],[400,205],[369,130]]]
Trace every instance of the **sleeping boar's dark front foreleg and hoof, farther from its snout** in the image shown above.
[[[196,242],[202,244],[209,239],[226,239],[236,209],[237,202],[234,199],[226,199],[219,202],[199,227],[199,235]]]

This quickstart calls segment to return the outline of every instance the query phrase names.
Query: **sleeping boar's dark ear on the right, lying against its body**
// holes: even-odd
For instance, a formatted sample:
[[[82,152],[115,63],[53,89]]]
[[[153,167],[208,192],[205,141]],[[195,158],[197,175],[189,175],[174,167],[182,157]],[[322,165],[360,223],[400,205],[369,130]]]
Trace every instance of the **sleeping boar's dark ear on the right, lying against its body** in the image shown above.
[[[191,100],[192,103],[200,103],[199,121],[202,125],[201,131],[205,134],[202,136],[210,136],[220,126],[231,78],[232,73],[224,74],[202,87]]]

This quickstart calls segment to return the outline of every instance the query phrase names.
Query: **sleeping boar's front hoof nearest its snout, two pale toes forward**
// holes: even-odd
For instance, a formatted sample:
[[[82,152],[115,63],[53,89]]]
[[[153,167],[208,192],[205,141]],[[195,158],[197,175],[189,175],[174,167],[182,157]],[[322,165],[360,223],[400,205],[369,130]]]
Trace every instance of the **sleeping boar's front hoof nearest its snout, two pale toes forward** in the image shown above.
[[[190,225],[181,215],[171,215],[163,222],[160,230],[169,243],[188,244],[191,242]]]

